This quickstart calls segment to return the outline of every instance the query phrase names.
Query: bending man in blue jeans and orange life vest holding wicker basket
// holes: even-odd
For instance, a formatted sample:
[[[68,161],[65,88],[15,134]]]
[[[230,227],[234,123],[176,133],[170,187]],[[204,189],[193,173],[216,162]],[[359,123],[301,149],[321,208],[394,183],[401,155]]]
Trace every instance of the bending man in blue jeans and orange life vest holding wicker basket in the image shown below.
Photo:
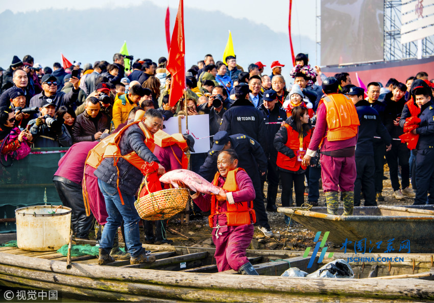
[[[108,213],[100,242],[98,260],[100,265],[114,261],[110,256],[110,250],[122,219],[125,228],[125,244],[131,256],[130,263],[155,261],[155,256],[149,255],[150,251],[144,250],[140,243],[138,226],[140,217],[134,207],[134,195],[144,174],[142,169],[147,164],[152,164],[159,175],[164,173],[164,167],[152,153],[154,133],[161,129],[161,126],[161,113],[158,110],[149,109],[142,120],[125,126],[118,133],[110,135],[100,143],[103,146],[108,145],[104,148],[102,161],[94,172],[94,175],[98,177],[98,185],[104,195]],[[98,162],[98,159],[95,161]]]

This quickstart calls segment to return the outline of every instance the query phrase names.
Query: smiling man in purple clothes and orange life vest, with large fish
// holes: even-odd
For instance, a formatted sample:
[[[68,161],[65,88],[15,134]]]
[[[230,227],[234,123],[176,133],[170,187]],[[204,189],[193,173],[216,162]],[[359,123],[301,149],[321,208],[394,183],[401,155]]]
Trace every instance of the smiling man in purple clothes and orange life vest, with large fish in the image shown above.
[[[237,154],[232,149],[220,152],[217,166],[219,171],[212,184],[199,175],[177,178],[180,170],[167,173],[160,181],[177,182],[180,187],[198,191],[191,198],[203,212],[211,211],[209,226],[213,228],[214,258],[219,271],[233,269],[242,274],[258,275],[246,257],[256,221],[252,180],[244,169],[237,168]]]

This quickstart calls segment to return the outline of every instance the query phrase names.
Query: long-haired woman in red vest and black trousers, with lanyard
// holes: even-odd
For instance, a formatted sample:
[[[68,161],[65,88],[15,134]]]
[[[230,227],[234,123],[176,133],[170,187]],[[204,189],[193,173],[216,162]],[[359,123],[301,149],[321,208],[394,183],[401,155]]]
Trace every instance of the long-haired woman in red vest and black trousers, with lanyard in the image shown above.
[[[304,152],[309,146],[311,126],[308,109],[297,106],[292,109],[291,117],[285,121],[274,137],[274,147],[278,151],[277,167],[282,180],[282,206],[290,205],[291,189],[294,183],[297,206],[304,202],[304,172],[301,165]],[[285,217],[285,222],[288,221]]]

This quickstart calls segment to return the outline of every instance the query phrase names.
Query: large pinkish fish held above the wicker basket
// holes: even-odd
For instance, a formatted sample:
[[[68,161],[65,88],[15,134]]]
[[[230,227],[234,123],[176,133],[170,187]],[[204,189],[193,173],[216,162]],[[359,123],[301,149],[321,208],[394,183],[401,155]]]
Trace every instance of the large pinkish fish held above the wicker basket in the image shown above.
[[[197,173],[189,170],[177,169],[167,172],[160,177],[160,182],[172,184],[175,188],[179,187],[177,183],[178,181],[183,182],[195,192],[214,195],[217,195],[220,192],[219,187],[216,187],[212,183],[209,183],[207,180],[199,176]]]

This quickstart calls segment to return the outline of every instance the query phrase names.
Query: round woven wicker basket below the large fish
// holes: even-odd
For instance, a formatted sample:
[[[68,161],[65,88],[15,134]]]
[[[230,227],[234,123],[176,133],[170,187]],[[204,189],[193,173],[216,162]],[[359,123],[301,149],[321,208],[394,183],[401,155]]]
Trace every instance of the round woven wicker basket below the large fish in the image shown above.
[[[149,221],[166,220],[185,209],[189,198],[187,189],[167,189],[150,193],[147,178],[144,178],[139,193],[143,185],[149,194],[139,196],[134,203],[140,218]]]

